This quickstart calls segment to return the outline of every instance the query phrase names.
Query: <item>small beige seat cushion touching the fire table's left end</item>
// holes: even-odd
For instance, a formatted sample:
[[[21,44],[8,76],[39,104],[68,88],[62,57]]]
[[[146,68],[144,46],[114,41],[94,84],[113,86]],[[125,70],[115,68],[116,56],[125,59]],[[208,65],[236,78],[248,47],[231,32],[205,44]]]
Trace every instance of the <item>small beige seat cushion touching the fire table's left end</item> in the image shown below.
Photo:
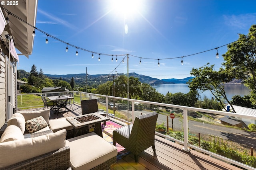
[[[59,131],[61,129],[66,129],[67,131],[73,129],[73,126],[66,120],[66,118],[51,119],[49,121],[49,126],[53,132]]]

